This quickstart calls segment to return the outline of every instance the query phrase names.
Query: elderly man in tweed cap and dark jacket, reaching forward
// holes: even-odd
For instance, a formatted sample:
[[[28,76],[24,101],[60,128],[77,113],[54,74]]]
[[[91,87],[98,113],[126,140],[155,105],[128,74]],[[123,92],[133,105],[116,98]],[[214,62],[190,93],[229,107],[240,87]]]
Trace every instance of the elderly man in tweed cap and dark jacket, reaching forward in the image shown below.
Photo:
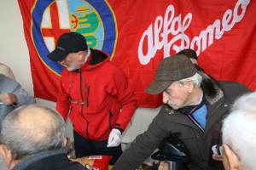
[[[222,156],[212,155],[212,145],[221,144],[220,129],[230,105],[250,90],[238,82],[218,85],[183,54],[162,59],[148,94],[163,94],[163,105],[148,130],[137,136],[113,167],[134,170],[172,133],[189,149],[191,161],[184,169],[223,169]],[[172,153],[170,153],[172,155]]]

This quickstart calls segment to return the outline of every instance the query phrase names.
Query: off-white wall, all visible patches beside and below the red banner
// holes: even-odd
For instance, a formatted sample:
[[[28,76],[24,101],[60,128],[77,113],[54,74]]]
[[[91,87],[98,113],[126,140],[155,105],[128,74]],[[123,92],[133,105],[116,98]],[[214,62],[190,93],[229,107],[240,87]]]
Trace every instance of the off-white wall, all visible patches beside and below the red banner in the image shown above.
[[[33,94],[29,54],[23,31],[20,8],[16,0],[0,0],[0,62],[9,65],[17,82]],[[55,102],[37,99],[37,103],[55,108]],[[143,133],[158,113],[157,109],[138,108],[132,123],[126,128],[123,142],[129,143],[137,134]],[[67,136],[72,138],[72,126],[67,126]]]

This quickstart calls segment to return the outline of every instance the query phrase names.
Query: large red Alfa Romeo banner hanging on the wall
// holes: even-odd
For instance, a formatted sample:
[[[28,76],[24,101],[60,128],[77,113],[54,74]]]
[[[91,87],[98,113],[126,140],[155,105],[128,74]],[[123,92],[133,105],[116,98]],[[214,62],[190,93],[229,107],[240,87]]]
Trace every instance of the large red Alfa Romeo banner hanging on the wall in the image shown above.
[[[18,0],[31,56],[35,96],[55,101],[64,68],[47,59],[67,31],[107,52],[131,80],[140,107],[161,95],[145,93],[160,60],[193,48],[219,80],[256,88],[256,2],[253,0]]]

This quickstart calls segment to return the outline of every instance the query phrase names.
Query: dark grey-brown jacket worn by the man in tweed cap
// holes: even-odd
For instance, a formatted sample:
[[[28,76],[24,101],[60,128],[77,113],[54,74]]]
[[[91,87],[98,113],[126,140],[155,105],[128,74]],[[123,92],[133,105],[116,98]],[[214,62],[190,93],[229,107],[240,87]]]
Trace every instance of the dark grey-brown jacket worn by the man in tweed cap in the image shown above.
[[[224,116],[230,113],[230,105],[237,97],[250,92],[246,86],[238,82],[220,81],[218,83],[222,90],[213,81],[210,81],[210,83],[213,83],[214,93],[203,87],[208,105],[205,133],[202,133],[188,116],[170,109],[167,105],[162,105],[159,114],[155,116],[148,130],[137,136],[131,143],[131,147],[119,157],[113,170],[136,169],[148,156],[151,156],[162,139],[170,132],[181,133],[179,138],[183,140],[190,151],[191,161],[187,164],[187,167],[190,170],[206,170],[209,156],[212,154],[210,151],[214,123],[222,120]],[[214,95],[212,96],[212,94]],[[217,164],[222,167],[221,161],[218,161]]]

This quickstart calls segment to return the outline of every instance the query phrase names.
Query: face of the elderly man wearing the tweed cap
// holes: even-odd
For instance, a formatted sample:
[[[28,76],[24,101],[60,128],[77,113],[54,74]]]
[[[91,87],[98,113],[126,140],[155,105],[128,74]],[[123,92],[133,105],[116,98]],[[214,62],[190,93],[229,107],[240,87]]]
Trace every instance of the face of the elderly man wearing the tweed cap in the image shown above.
[[[189,86],[173,82],[163,92],[163,103],[177,110],[189,104]]]

